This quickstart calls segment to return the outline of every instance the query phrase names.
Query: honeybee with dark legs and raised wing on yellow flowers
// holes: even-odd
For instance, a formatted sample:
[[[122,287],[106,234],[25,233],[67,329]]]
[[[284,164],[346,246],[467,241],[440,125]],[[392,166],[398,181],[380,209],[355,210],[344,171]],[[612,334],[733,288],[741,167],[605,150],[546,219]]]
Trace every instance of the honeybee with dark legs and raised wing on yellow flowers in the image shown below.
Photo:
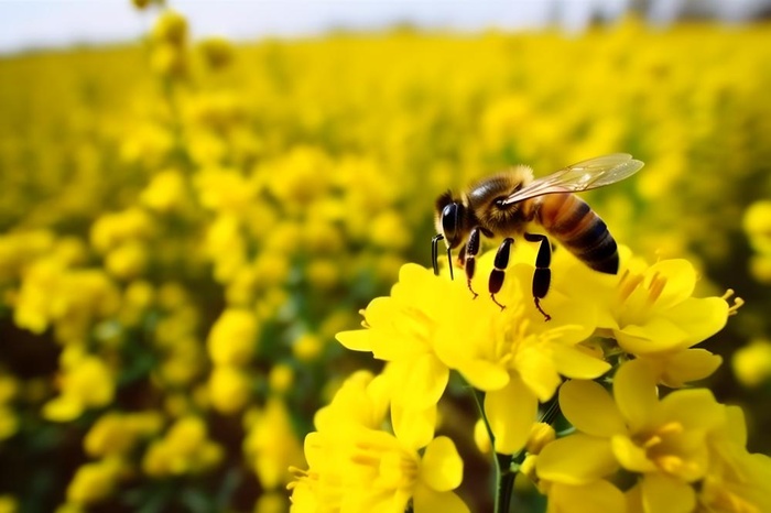
[[[503,286],[514,237],[523,236],[537,242],[539,252],[533,274],[535,308],[550,320],[541,308],[552,281],[550,263],[552,245],[546,236],[528,232],[532,223],[541,225],[571,253],[595,271],[617,274],[618,248],[608,227],[583,199],[573,193],[605,187],[633,175],[643,163],[627,153],[613,153],[578,162],[549,176],[533,179],[530,167],[520,165],[481,179],[459,198],[446,192],[436,199],[435,226],[437,236],[432,240],[432,263],[438,274],[438,241],[444,240],[453,276],[452,252],[461,243],[458,260],[466,272],[468,288],[476,298],[471,279],[479,254],[480,237],[503,237],[493,261],[488,292],[496,299]]]

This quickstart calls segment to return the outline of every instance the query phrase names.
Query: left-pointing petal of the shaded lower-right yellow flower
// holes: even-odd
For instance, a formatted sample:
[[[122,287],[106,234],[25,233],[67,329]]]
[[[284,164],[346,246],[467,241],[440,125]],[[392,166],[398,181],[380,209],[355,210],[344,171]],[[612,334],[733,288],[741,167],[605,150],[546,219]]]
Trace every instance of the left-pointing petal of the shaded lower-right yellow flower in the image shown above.
[[[552,441],[535,461],[537,474],[564,484],[588,484],[618,469],[607,438],[578,433]]]

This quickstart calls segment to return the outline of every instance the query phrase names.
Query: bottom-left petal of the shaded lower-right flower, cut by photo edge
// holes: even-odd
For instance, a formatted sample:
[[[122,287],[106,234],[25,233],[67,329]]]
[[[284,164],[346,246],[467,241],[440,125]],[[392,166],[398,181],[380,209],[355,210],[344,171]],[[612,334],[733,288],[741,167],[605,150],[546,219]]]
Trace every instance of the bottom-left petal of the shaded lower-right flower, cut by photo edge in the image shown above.
[[[626,513],[626,499],[606,480],[580,487],[554,483],[549,492],[550,511],[561,513]]]

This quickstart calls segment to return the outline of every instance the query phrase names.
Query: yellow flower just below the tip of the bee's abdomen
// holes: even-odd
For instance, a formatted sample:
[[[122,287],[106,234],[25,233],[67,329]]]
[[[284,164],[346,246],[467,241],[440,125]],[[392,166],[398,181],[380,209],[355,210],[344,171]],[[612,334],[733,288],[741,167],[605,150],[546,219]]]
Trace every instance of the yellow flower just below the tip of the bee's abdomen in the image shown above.
[[[569,280],[558,277],[557,286],[567,280],[564,287],[575,302],[593,291],[588,298],[597,304],[600,331],[615,338],[623,351],[648,360],[661,383],[681,388],[712,374],[723,359],[693,346],[726,325],[730,313],[726,298],[693,297],[697,274],[685,260],[648,266],[627,248],[619,252],[619,276],[591,273],[573,259]]]

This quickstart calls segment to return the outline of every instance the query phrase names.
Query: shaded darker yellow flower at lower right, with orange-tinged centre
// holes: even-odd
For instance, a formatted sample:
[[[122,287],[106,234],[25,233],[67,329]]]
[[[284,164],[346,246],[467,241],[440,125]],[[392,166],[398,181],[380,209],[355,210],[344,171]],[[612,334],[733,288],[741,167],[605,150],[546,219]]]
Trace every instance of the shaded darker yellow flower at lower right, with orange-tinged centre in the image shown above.
[[[743,423],[731,424],[736,413],[706,389],[674,391],[659,400],[655,382],[654,370],[636,360],[617,371],[613,397],[594,382],[565,383],[560,405],[579,433],[541,451],[539,477],[586,485],[621,467],[639,474],[640,511],[694,511],[699,483],[729,460],[716,455],[745,452]]]

